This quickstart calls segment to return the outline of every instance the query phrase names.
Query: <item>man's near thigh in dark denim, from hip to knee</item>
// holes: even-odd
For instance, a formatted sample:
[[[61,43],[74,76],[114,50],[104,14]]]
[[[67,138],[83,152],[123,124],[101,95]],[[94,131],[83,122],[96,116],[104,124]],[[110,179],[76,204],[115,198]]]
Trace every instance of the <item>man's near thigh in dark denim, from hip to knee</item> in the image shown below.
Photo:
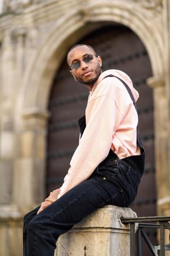
[[[82,220],[94,210],[105,204],[114,204],[122,198],[122,189],[96,176],[83,181],[70,189],[53,204],[49,205],[41,213],[33,218],[37,228],[53,226],[63,230],[69,230],[74,224]]]

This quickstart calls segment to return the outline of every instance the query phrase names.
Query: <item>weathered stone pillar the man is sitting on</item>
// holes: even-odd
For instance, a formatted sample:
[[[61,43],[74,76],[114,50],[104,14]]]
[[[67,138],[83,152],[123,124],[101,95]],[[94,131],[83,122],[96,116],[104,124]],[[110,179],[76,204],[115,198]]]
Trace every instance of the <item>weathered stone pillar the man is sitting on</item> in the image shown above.
[[[136,217],[130,208],[107,205],[88,215],[59,237],[54,256],[129,256],[129,225],[121,217]]]

